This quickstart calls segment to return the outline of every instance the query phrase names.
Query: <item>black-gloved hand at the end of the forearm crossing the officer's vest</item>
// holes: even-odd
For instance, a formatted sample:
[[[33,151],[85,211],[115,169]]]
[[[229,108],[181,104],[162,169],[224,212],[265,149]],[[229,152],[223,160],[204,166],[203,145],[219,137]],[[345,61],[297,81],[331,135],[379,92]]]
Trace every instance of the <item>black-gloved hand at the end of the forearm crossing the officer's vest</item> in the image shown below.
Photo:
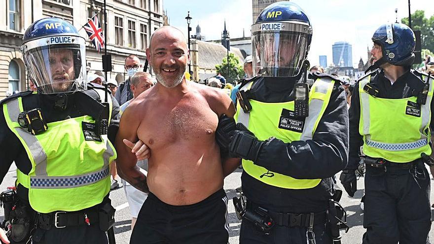
[[[258,140],[254,134],[241,123],[237,124],[237,129],[229,144],[229,154],[251,160],[254,163],[265,141]]]

